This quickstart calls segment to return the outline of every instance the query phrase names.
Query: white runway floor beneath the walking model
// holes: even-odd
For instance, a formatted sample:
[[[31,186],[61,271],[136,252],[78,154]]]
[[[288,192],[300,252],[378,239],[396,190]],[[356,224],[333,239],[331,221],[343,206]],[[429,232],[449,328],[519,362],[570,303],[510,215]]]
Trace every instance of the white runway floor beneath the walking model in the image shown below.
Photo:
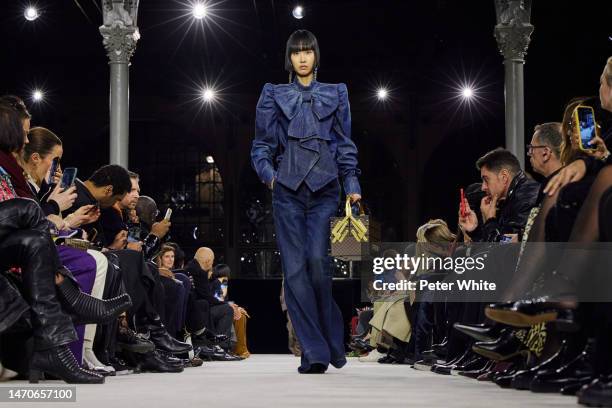
[[[504,390],[492,383],[405,365],[350,358],[341,370],[300,375],[298,362],[290,355],[253,355],[239,362],[204,363],[181,374],[137,374],[109,377],[104,385],[78,385],[76,403],[0,403],[0,407],[579,407],[575,397]],[[60,385],[57,381],[43,384]],[[29,384],[0,384],[8,386]]]

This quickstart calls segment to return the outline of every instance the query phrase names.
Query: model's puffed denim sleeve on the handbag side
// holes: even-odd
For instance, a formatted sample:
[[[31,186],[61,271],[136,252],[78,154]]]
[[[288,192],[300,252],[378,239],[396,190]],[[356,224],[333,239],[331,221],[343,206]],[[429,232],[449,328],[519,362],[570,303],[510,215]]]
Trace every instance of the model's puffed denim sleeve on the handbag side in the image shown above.
[[[334,129],[338,136],[338,150],[336,163],[346,194],[361,194],[359,186],[359,175],[361,171],[357,167],[357,147],[351,140],[351,107],[348,100],[348,91],[345,84],[338,85],[338,110]]]

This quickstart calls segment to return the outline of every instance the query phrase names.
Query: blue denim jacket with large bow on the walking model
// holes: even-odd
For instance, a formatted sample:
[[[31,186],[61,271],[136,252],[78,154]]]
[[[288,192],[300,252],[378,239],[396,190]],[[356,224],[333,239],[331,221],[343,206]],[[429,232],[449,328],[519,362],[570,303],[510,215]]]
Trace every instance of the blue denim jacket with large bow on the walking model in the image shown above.
[[[251,162],[266,184],[276,179],[296,191],[304,182],[317,191],[340,177],[346,194],[361,194],[346,85],[265,84]]]

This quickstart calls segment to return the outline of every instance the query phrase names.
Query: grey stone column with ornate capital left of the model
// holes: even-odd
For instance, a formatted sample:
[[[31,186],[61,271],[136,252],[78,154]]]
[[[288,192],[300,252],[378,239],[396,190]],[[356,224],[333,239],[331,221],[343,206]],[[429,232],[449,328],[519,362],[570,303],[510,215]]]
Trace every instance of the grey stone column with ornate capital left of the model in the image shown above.
[[[140,38],[138,0],[102,0],[100,27],[110,65],[110,162],[128,167],[129,65]]]

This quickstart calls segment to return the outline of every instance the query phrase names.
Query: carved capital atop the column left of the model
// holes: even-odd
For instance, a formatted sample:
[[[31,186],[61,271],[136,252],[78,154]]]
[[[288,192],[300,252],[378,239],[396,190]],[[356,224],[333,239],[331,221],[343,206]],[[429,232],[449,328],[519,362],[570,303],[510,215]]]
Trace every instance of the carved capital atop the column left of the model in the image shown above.
[[[138,0],[103,0],[100,27],[106,55],[112,63],[129,64],[140,39],[136,26]]]

